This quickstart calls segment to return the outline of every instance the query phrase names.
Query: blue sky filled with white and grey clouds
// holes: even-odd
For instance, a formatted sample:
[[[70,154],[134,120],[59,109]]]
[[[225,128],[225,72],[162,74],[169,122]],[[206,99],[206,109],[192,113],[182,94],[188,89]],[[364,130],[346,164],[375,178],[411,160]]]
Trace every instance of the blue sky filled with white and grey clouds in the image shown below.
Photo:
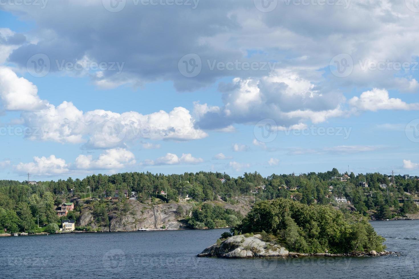
[[[419,174],[415,0],[0,0],[0,179]]]

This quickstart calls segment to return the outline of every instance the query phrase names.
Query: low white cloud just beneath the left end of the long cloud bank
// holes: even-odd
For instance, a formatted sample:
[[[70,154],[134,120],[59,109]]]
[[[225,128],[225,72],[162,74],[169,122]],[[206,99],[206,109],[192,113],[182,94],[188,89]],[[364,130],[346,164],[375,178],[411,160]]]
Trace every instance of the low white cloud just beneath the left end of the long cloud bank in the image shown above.
[[[75,161],[77,169],[85,170],[122,169],[132,164],[135,164],[134,154],[123,148],[108,149],[97,159],[93,159],[92,155],[79,155]]]

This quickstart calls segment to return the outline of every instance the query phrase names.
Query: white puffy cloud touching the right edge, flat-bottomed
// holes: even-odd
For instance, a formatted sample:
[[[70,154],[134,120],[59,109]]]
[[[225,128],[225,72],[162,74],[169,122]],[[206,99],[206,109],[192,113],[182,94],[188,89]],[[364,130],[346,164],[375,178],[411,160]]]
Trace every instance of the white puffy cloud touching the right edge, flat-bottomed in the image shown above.
[[[401,99],[390,98],[387,90],[377,88],[362,92],[360,97],[353,97],[348,102],[358,110],[419,110],[419,103],[408,104]]]

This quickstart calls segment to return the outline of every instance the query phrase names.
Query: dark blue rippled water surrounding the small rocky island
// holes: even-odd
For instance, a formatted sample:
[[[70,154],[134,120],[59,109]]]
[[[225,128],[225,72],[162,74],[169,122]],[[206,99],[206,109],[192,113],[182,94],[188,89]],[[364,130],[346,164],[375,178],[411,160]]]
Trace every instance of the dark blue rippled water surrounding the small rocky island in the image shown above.
[[[0,278],[417,278],[419,220],[374,221],[388,251],[367,258],[197,258],[226,230],[0,238]]]

